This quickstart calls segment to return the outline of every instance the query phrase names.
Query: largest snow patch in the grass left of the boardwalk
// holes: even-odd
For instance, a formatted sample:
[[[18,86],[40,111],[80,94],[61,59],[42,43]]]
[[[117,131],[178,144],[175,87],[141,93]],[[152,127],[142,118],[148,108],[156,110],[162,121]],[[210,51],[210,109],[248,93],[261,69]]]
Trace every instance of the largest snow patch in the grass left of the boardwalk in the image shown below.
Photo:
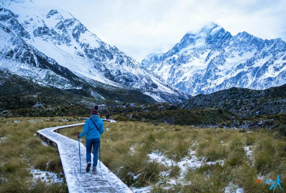
[[[40,179],[47,183],[63,183],[63,178],[58,178],[57,173],[41,171],[41,170],[31,170],[33,174],[33,180],[36,182],[37,179]]]

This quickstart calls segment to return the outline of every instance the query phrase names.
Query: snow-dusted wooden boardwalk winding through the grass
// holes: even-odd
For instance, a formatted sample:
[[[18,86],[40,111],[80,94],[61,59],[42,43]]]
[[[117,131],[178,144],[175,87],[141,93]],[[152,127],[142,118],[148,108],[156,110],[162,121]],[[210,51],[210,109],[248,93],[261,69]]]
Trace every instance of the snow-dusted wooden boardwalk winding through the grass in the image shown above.
[[[104,120],[104,119],[103,119]],[[115,122],[113,120],[106,120]],[[68,191],[71,192],[132,192],[114,173],[112,173],[102,162],[97,164],[97,172],[86,172],[86,148],[80,143],[80,155],[82,173],[80,173],[80,160],[78,141],[56,133],[59,129],[84,125],[78,123],[59,127],[50,127],[37,131],[50,144],[59,150],[61,163],[67,183]],[[93,159],[93,155],[92,158]]]

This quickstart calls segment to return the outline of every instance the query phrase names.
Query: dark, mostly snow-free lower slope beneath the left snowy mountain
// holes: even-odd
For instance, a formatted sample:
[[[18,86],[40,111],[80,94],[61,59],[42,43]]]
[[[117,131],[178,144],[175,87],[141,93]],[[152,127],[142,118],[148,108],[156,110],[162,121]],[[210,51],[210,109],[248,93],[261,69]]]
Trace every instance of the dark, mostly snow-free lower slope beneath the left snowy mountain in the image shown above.
[[[96,88],[102,98],[95,99],[90,92],[94,88],[86,85],[82,89],[60,89],[46,87],[35,83],[31,78],[19,76],[0,68],[0,117],[1,116],[57,116],[61,113],[69,115],[87,114],[93,105],[108,107],[122,105],[119,101],[133,103],[156,103],[150,97],[137,90],[123,88]]]

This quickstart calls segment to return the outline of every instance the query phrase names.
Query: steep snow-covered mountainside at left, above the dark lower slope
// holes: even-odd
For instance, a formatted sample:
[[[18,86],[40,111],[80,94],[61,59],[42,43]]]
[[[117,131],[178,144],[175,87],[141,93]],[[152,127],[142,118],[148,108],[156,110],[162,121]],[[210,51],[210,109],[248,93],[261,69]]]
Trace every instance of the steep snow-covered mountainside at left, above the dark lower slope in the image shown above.
[[[0,68],[40,84],[80,89],[81,83],[92,87],[104,83],[138,90],[157,101],[180,102],[190,97],[59,8],[4,0],[0,24]]]

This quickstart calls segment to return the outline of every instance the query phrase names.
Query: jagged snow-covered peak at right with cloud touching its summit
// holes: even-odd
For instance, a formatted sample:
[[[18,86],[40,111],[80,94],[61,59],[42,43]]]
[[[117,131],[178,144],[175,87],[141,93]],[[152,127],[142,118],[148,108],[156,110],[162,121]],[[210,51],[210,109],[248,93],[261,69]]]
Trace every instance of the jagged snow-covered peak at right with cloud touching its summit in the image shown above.
[[[211,23],[188,32],[164,54],[150,54],[142,65],[192,95],[231,87],[265,89],[286,84],[286,43],[247,32],[232,36]]]

